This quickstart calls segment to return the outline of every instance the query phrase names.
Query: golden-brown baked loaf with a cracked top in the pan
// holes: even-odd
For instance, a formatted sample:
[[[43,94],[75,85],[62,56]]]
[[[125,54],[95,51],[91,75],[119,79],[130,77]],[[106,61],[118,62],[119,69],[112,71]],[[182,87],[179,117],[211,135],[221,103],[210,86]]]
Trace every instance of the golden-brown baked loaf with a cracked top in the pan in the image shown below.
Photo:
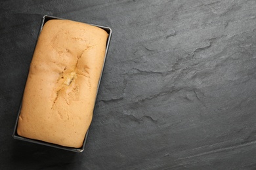
[[[70,20],[49,20],[39,35],[17,133],[80,148],[91,124],[108,33]]]

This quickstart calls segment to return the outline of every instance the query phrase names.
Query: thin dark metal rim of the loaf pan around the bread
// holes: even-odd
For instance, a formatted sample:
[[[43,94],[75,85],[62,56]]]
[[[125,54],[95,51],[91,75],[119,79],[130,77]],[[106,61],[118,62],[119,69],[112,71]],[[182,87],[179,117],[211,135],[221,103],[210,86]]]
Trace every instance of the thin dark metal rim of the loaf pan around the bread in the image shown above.
[[[42,29],[43,29],[43,25],[47,21],[49,21],[49,20],[64,20],[64,19],[63,18],[58,18],[58,17],[55,17],[55,16],[47,16],[47,15],[43,16],[43,19],[42,19],[42,22],[41,22],[41,26],[40,26],[40,29],[39,29],[39,33],[38,33],[37,39],[38,39],[39,34],[41,33]],[[102,72],[101,72],[101,75],[100,75],[100,80],[101,80],[103,69],[104,69],[104,65],[105,65],[105,61],[106,61],[106,56],[108,54],[108,48],[109,48],[109,45],[110,45],[110,39],[112,37],[112,29],[110,29],[110,27],[104,27],[104,26],[101,26],[101,25],[95,25],[95,24],[90,24],[90,25],[94,25],[96,27],[100,27],[100,28],[104,29],[108,33],[108,40],[107,40],[107,43],[106,43],[106,53],[105,53],[105,58],[104,58]],[[100,86],[100,80],[98,81],[98,88]],[[98,89],[97,89],[97,93],[98,93]],[[89,129],[88,129],[88,131],[87,131],[87,133],[85,135],[85,139],[83,141],[83,146],[81,146],[81,148],[72,148],[72,147],[67,147],[67,146],[60,146],[58,144],[47,143],[47,142],[39,141],[39,140],[35,140],[35,139],[28,139],[26,137],[22,137],[22,136],[18,135],[18,133],[17,133],[17,126],[18,126],[18,118],[20,116],[20,109],[21,109],[21,107],[22,107],[22,99],[20,101],[20,107],[19,107],[19,110],[18,110],[18,116],[16,118],[16,123],[15,123],[14,131],[13,131],[13,134],[12,134],[12,137],[14,139],[18,139],[18,140],[22,140],[22,141],[27,141],[27,142],[30,142],[30,143],[43,144],[45,146],[51,146],[51,147],[60,148],[60,149],[63,149],[63,150],[70,150],[70,151],[73,151],[73,152],[83,152],[83,150],[85,149],[85,144],[86,144],[86,141],[87,141]]]

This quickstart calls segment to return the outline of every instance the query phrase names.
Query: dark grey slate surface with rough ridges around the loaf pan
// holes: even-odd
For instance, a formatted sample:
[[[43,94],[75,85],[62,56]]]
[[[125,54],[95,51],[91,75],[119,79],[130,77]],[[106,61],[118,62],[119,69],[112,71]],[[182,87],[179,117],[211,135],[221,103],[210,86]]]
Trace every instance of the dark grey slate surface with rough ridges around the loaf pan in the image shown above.
[[[43,15],[112,27],[85,151],[12,139]],[[256,169],[256,1],[0,2],[0,169]]]

